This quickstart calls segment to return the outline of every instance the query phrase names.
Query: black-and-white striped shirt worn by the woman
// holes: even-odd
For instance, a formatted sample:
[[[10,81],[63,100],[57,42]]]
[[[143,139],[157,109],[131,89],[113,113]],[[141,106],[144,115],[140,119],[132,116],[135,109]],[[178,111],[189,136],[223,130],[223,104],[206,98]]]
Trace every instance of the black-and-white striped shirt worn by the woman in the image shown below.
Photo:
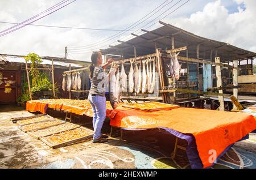
[[[105,96],[105,84],[108,83],[107,74],[102,66],[96,66],[93,70],[93,75],[90,79],[90,91],[91,95]]]

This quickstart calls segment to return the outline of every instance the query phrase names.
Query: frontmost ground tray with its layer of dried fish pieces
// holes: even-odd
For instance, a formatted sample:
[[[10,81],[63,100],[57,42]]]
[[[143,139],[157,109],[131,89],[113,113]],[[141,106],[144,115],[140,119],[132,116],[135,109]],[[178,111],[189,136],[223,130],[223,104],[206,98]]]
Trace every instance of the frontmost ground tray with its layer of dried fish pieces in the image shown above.
[[[40,138],[40,140],[42,140],[42,142],[49,145],[49,147],[57,148],[57,147],[63,147],[69,144],[74,144],[77,142],[82,142],[83,140],[89,140],[92,137],[93,137],[92,130],[87,130],[85,128],[79,127],[73,130],[59,132],[57,134],[42,137]]]

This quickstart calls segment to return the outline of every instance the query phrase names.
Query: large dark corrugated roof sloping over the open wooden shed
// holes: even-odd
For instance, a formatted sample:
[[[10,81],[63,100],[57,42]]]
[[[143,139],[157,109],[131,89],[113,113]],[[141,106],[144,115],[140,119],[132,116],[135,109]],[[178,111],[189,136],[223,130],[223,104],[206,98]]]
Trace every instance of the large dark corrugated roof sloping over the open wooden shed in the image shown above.
[[[171,37],[174,36],[175,48],[187,46],[188,43],[188,55],[191,58],[196,58],[196,46],[198,44],[200,44],[199,58],[210,59],[210,50],[213,50],[213,57],[215,50],[217,50],[217,56],[221,58],[221,62],[228,61],[228,59],[234,60],[256,57],[256,53],[254,52],[237,48],[225,42],[194,35],[171,24],[159,23],[163,24],[163,26],[150,32],[145,31],[146,33],[141,36],[102,50],[102,52],[123,55],[125,58],[133,57],[135,45],[138,56],[152,54],[155,53],[155,42],[157,48],[171,49]],[[185,51],[181,52],[180,55],[185,56]]]

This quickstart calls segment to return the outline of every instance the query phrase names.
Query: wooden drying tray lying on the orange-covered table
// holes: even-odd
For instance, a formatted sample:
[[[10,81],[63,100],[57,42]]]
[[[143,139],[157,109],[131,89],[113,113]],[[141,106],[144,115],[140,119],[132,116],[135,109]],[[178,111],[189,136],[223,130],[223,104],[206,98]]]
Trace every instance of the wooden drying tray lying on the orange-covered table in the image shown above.
[[[147,108],[139,108],[139,107],[134,106],[134,105],[138,105],[138,104],[150,104],[150,103],[158,104],[159,108],[149,108],[149,109],[147,109]],[[164,104],[164,103],[161,103],[161,102],[143,102],[143,103],[138,103],[138,104],[124,104],[124,105],[121,105],[121,106],[125,107],[125,108],[144,110],[144,111],[147,111],[147,112],[154,112],[154,111],[158,111],[158,110],[170,110],[170,109],[175,109],[175,108],[180,107],[178,105]],[[166,107],[161,107],[161,105],[164,105]]]

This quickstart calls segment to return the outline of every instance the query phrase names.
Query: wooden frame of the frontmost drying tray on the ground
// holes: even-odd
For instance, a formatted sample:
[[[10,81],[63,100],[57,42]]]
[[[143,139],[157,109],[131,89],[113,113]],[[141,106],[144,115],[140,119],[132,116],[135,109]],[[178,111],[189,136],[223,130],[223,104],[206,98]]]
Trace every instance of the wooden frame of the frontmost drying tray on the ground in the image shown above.
[[[48,136],[45,136],[45,137],[41,137],[39,138],[40,140],[42,140],[42,142],[46,143],[49,147],[55,149],[55,148],[60,148],[60,147],[64,147],[66,145],[71,145],[71,144],[76,144],[76,143],[80,143],[84,140],[91,140],[93,138],[93,131],[92,130],[89,130],[88,128],[84,128],[84,127],[79,127],[79,128],[82,128],[84,129],[85,131],[88,131],[90,133],[90,135],[87,135],[87,136],[84,136],[84,137],[81,137],[81,138],[77,138],[77,139],[73,139],[73,140],[69,140],[68,142],[64,142],[64,143],[60,143],[60,144],[52,144],[50,142],[48,142],[45,138],[47,138]],[[60,132],[59,132],[60,133]],[[56,134],[59,134],[59,133],[56,133]]]

